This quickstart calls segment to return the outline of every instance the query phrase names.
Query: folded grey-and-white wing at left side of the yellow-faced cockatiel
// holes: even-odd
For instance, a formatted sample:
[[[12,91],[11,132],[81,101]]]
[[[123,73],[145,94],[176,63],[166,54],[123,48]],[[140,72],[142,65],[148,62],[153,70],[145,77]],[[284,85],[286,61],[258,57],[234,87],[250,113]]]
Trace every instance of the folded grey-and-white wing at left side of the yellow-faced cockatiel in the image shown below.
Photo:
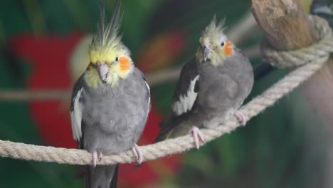
[[[82,137],[82,115],[83,115],[83,76],[81,76],[73,87],[70,103],[70,119],[72,123],[73,138],[80,142]]]

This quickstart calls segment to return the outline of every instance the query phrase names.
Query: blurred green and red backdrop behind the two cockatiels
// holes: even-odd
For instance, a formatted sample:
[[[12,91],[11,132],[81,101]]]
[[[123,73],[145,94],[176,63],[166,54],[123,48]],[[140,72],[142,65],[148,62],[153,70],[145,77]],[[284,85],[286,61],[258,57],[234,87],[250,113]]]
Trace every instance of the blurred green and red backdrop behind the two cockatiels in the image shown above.
[[[310,11],[312,1],[301,2]],[[329,6],[330,2],[320,4]],[[107,0],[108,15],[113,5]],[[194,56],[200,33],[214,14],[226,18],[229,31],[248,11],[248,0],[123,0],[123,41],[144,73],[158,73]],[[1,1],[0,90],[70,89],[73,48],[95,31],[98,14],[97,0]],[[248,35],[238,47],[258,48],[260,30],[253,28]],[[260,56],[253,56],[251,62],[261,63]],[[38,73],[43,74],[36,77]],[[275,70],[257,80],[249,99],[286,73]],[[168,80],[152,87],[152,118],[169,113],[175,85],[176,80]],[[52,126],[47,123],[53,118],[53,105],[48,101],[0,101],[0,139],[75,147],[73,141],[67,141],[72,140],[70,125],[63,123],[63,116],[57,116]],[[68,103],[63,107],[61,114],[69,118]],[[145,130],[149,139],[142,143],[152,143],[157,122],[147,127],[152,130]],[[63,124],[67,127],[60,129]],[[172,164],[149,162],[142,173],[152,175],[127,177],[121,173],[120,187],[333,187],[327,183],[333,166],[330,133],[300,90],[295,90],[246,127],[199,151],[176,157]],[[166,167],[169,164],[174,167]],[[0,187],[83,187],[73,166],[1,158],[0,169]]]

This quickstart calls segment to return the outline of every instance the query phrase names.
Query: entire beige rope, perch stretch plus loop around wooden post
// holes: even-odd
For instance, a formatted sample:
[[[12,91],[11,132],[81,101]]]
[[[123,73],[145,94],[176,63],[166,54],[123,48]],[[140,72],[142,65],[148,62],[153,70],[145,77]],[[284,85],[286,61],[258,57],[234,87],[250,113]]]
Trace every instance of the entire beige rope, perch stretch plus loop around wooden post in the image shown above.
[[[282,78],[272,87],[261,95],[253,98],[248,104],[240,108],[241,112],[250,120],[250,118],[262,113],[266,108],[273,105],[284,95],[290,93],[311,77],[324,62],[329,58],[329,53],[333,51],[332,31],[329,25],[323,19],[316,16],[310,16],[310,20],[317,29],[320,40],[318,43],[301,48],[297,51],[276,52],[271,48],[263,49],[265,61],[272,63],[279,68],[288,68],[300,66],[295,71],[290,72],[285,78]],[[267,46],[266,46],[267,47]],[[229,133],[239,127],[238,121],[233,118],[223,125],[213,129],[202,129],[205,141],[210,142],[226,133]],[[181,152],[186,152],[194,148],[194,140],[190,135],[176,137],[174,139],[158,142],[153,145],[142,146],[144,161],[156,160],[160,157],[166,157]],[[56,147],[45,147],[38,145],[26,145],[10,141],[0,140],[0,155],[2,157],[11,157],[18,160],[33,160],[40,162],[57,162],[59,164],[92,164],[91,154],[85,150],[65,149]],[[135,157],[131,151],[121,152],[117,155],[104,156],[98,164],[116,164],[135,162]]]

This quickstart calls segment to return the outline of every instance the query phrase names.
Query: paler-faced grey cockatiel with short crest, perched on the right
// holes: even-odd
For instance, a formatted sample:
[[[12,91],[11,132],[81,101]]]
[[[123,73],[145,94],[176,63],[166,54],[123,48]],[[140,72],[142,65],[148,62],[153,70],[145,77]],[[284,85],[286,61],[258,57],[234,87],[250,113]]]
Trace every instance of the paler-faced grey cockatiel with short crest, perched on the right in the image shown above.
[[[213,21],[201,33],[196,56],[184,65],[171,101],[171,115],[160,124],[156,141],[193,134],[196,147],[204,142],[198,127],[216,127],[235,115],[253,87],[253,68],[248,58],[228,41],[223,21]]]

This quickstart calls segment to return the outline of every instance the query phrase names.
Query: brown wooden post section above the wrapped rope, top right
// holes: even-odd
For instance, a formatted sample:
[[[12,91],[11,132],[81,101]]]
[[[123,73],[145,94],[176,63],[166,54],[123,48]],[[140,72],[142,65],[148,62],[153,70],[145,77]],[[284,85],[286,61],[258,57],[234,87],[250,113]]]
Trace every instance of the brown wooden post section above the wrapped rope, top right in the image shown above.
[[[253,0],[252,11],[265,38],[279,51],[310,46],[318,40],[297,0]]]

